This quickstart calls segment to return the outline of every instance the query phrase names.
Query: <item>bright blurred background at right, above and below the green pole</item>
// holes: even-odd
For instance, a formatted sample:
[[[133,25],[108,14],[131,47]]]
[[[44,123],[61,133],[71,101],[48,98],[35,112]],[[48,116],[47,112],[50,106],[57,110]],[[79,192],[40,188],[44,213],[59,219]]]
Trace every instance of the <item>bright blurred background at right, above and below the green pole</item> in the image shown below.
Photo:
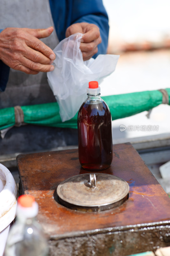
[[[170,2],[167,0],[103,0],[109,16],[108,53],[118,54],[116,70],[101,83],[101,95],[151,91],[170,87]],[[161,104],[113,121],[113,141],[140,142],[170,137],[170,106]],[[120,131],[120,125],[133,131]],[[140,131],[135,126],[157,125]]]

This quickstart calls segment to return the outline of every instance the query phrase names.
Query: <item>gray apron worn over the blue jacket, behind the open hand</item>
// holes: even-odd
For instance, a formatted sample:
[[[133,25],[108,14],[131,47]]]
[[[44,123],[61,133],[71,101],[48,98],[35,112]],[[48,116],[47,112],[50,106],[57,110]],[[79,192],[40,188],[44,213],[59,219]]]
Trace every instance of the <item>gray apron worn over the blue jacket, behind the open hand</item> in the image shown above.
[[[0,28],[48,28],[54,27],[48,0],[8,0],[1,1]],[[59,43],[55,27],[53,33],[41,39],[51,49]],[[54,102],[47,74],[39,72],[28,75],[24,72],[10,69],[10,75],[5,92],[0,92],[0,108],[16,105],[34,105]]]

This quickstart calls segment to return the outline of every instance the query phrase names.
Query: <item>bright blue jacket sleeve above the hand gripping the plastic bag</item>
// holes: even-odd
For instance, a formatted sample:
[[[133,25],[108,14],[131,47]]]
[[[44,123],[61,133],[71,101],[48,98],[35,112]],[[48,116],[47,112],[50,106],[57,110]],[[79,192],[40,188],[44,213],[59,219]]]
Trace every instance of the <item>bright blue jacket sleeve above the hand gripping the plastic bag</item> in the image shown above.
[[[49,0],[49,2],[59,41],[65,38],[66,29],[73,23],[93,23],[100,28],[102,39],[102,43],[98,45],[98,53],[93,57],[107,52],[109,25],[102,0]]]

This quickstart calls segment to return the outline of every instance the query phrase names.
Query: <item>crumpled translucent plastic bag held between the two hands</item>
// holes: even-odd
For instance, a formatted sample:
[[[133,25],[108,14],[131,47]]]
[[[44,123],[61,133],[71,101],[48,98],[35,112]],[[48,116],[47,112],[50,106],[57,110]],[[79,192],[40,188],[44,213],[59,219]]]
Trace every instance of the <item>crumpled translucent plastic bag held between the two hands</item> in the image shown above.
[[[111,74],[119,55],[98,55],[96,59],[83,61],[80,39],[76,33],[62,40],[53,50],[56,54],[55,69],[48,72],[48,84],[60,107],[62,121],[71,119],[87,98],[89,81],[98,81]]]

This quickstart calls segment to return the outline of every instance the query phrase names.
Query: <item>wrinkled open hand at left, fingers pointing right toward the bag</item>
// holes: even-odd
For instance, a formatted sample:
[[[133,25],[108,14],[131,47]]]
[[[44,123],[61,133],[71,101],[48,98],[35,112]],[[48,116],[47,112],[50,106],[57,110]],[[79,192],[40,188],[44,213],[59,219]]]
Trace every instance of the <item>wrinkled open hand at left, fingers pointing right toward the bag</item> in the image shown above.
[[[50,36],[53,30],[53,27],[5,28],[0,33],[0,60],[26,74],[52,71],[55,54],[39,38]]]

